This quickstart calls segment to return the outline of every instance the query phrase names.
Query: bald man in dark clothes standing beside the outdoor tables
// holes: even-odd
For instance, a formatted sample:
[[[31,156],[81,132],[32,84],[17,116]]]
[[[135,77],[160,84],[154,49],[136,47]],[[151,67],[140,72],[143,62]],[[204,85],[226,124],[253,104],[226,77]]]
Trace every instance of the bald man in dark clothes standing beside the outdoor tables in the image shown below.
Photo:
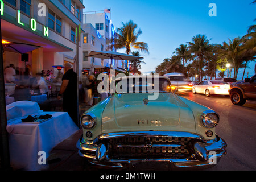
[[[77,121],[77,75],[70,63],[64,65],[65,74],[62,77],[62,84],[58,99],[63,96],[63,111],[68,112],[69,116],[78,125]]]

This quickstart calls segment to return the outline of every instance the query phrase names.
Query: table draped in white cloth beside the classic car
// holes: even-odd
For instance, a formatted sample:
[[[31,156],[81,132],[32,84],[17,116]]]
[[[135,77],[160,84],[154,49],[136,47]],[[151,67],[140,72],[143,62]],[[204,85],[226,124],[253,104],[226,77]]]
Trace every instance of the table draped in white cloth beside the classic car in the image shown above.
[[[37,102],[18,101],[6,106],[7,132],[9,133],[9,148],[11,167],[24,170],[42,170],[46,165],[39,164],[45,152],[46,159],[56,144],[76,133],[79,128],[68,113],[44,112]],[[52,118],[41,123],[22,122],[28,115],[52,115]]]

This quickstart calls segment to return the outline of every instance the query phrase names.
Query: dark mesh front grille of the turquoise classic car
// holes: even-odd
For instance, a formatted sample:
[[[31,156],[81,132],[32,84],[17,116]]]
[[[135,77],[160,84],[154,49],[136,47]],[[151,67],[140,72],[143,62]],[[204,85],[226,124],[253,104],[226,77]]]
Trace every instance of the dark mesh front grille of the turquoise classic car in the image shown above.
[[[190,137],[116,137],[108,138],[112,149],[110,156],[113,158],[164,158],[187,155],[187,143]],[[152,148],[148,150],[146,144]]]

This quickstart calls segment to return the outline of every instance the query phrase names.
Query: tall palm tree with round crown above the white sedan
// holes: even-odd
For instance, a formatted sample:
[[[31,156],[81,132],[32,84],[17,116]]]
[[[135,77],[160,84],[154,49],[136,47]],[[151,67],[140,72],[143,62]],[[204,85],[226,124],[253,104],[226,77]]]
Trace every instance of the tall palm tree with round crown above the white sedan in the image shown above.
[[[203,67],[205,56],[209,54],[211,45],[205,35],[196,35],[192,38],[192,42],[187,42],[188,48],[193,57],[197,57],[199,60],[199,79],[203,78]]]

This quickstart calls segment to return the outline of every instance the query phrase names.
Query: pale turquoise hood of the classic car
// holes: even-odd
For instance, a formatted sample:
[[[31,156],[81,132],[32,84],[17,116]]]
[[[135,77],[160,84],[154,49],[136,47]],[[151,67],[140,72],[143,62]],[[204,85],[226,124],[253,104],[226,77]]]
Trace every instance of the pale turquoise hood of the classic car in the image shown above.
[[[102,114],[102,133],[117,131],[195,132],[192,110],[172,93],[159,93],[144,104],[147,93],[115,94]]]

